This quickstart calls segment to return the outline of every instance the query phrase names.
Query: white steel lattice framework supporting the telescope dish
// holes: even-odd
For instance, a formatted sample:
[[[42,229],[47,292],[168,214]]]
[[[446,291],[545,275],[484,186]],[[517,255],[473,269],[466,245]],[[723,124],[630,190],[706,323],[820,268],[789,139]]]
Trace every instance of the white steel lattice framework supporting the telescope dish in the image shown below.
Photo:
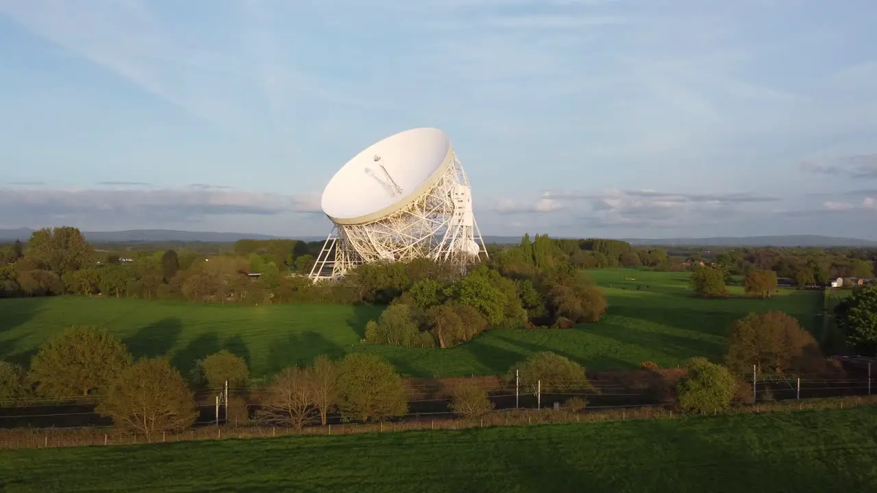
[[[359,225],[334,225],[310,278],[337,278],[363,262],[429,258],[465,269],[481,254],[487,257],[469,179],[451,152],[450,166],[435,184],[403,209]]]

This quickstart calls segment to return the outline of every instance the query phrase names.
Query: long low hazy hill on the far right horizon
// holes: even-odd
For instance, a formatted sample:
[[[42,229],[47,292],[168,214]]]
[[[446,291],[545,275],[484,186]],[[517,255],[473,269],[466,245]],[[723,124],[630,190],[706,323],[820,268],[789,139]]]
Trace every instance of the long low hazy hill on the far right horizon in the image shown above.
[[[677,247],[877,247],[877,241],[870,239],[837,238],[814,234],[712,238],[628,238],[624,241],[631,243],[631,245]]]

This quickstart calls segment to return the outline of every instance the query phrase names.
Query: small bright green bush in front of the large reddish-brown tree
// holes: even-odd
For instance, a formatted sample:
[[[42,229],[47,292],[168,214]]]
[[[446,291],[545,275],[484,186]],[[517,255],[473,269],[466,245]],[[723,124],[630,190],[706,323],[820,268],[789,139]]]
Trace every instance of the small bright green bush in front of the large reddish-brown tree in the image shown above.
[[[706,358],[692,358],[685,368],[686,374],[676,386],[682,409],[709,412],[724,411],[731,406],[738,382],[728,368],[710,363]]]

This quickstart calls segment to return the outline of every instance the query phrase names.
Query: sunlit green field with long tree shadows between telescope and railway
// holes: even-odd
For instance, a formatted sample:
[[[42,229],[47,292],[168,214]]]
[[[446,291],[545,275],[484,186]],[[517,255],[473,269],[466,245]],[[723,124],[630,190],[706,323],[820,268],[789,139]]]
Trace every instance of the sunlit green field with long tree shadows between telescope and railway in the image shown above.
[[[695,355],[718,358],[731,321],[750,311],[786,311],[814,332],[823,326],[816,320],[822,307],[816,291],[783,289],[765,300],[702,300],[691,297],[686,273],[618,268],[588,274],[610,304],[599,323],[570,330],[495,329],[451,349],[360,344],[367,320],[381,311],[370,306],[2,299],[0,359],[26,363],[39,344],[65,326],[88,324],[117,333],[136,356],[166,354],[183,371],[197,358],[227,348],[244,356],[255,376],[309,363],[317,354],[339,357],[353,351],[381,354],[405,375],[496,375],[538,351],[562,354],[590,369],[636,368],[642,361],[675,366]]]

